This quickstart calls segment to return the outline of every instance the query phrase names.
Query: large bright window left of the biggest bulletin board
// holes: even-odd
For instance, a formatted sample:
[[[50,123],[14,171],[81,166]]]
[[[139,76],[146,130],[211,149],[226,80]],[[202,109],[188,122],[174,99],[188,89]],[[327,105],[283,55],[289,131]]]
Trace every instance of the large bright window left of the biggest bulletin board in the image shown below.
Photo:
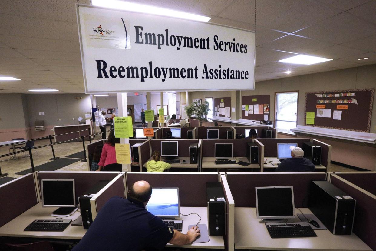
[[[298,112],[297,91],[276,93],[276,128],[279,132],[289,132],[296,127]]]

